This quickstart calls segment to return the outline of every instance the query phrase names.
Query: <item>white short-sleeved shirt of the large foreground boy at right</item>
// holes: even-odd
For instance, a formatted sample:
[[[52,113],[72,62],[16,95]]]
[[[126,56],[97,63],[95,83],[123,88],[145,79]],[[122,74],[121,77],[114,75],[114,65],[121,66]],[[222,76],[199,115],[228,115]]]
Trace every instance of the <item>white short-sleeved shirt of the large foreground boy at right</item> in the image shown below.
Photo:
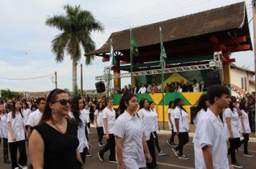
[[[209,109],[198,119],[193,137],[195,168],[206,169],[202,148],[208,145],[211,148],[214,169],[229,169],[227,143],[223,129],[220,118]]]

